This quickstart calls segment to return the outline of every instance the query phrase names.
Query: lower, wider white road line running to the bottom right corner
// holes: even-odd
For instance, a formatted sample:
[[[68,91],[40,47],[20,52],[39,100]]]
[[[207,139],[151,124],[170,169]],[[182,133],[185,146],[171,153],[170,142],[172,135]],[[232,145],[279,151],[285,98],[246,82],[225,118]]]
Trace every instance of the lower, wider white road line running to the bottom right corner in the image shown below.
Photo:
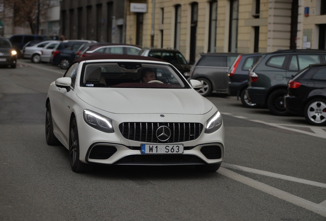
[[[217,170],[217,172],[223,176],[227,176],[230,179],[236,180],[240,183],[246,184],[250,187],[253,187],[255,189],[258,189],[260,191],[263,191],[275,197],[278,197],[281,200],[287,201],[289,203],[300,206],[302,208],[305,208],[307,210],[313,211],[319,215],[326,217],[326,207],[323,207],[319,204],[310,202],[308,200],[305,200],[304,198],[292,195],[283,190],[279,190],[276,189],[275,187],[247,178],[246,176],[240,175],[236,172],[225,169],[223,167],[220,167],[219,170]]]

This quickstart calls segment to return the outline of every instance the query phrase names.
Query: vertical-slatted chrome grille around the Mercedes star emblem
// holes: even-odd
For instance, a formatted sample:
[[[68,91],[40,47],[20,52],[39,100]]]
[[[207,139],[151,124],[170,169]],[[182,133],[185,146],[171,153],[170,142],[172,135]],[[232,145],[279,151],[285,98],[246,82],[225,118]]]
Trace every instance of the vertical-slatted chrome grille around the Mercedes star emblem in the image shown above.
[[[162,142],[156,137],[156,130],[167,126],[171,130],[169,140]],[[125,122],[119,125],[124,138],[133,141],[151,143],[175,143],[196,140],[202,131],[201,123],[162,123],[162,122]]]

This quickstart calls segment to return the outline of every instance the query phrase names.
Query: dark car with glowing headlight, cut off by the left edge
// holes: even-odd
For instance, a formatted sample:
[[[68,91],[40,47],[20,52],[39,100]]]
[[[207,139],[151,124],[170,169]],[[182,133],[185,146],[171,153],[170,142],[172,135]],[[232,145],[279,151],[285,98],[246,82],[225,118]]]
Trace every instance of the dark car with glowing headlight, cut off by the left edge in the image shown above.
[[[7,38],[0,37],[0,65],[16,68],[17,52]]]

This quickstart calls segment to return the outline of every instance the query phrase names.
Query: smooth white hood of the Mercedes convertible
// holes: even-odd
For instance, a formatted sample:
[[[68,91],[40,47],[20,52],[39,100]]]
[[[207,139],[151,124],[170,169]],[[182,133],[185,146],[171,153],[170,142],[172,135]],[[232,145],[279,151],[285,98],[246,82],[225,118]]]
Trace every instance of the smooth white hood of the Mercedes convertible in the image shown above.
[[[193,89],[79,87],[76,95],[115,114],[206,114],[213,104]]]

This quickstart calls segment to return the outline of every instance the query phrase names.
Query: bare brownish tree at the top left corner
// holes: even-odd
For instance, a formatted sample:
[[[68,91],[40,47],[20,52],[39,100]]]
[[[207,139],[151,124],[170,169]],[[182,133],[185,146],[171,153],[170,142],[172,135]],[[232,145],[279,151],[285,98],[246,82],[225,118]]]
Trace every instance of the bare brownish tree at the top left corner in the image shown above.
[[[46,9],[49,7],[48,0],[3,0],[6,17],[13,18],[14,26],[29,26],[35,33],[37,4],[40,3],[40,18],[46,18]]]

